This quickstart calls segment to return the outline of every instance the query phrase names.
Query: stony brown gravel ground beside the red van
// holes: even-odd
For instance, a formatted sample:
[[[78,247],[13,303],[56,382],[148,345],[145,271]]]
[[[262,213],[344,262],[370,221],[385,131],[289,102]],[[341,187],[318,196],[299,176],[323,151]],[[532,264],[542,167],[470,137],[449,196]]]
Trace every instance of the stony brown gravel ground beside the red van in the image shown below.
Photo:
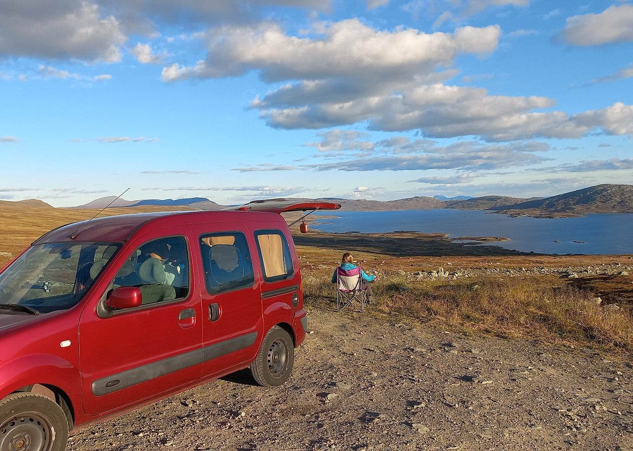
[[[248,371],[73,434],[66,450],[633,450],[633,364],[587,349],[309,312],[291,379]]]

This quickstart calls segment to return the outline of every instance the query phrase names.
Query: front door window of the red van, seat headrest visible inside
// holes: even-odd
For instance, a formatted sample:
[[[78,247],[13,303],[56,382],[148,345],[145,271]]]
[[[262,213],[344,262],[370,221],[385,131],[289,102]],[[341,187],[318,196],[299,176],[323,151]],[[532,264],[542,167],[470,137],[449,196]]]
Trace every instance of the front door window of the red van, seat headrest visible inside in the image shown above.
[[[115,288],[141,288],[142,303],[184,298],[189,293],[189,252],[180,236],[147,241],[130,253],[114,279]]]

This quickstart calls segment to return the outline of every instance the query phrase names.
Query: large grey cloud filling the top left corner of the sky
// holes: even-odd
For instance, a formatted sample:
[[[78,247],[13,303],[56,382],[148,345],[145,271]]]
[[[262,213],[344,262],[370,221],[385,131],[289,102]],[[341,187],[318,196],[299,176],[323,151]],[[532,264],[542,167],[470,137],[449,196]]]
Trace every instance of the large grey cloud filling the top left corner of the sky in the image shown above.
[[[90,1],[0,2],[0,56],[120,61],[127,37]]]

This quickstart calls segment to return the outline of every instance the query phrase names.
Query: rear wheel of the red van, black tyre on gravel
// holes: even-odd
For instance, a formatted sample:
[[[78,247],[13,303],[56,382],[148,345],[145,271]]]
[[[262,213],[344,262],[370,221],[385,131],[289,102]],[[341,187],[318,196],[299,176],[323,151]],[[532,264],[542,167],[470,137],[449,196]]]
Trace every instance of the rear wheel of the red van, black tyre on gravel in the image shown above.
[[[261,342],[257,357],[251,364],[253,379],[263,387],[281,385],[290,377],[292,364],[292,338],[281,327],[273,326]]]

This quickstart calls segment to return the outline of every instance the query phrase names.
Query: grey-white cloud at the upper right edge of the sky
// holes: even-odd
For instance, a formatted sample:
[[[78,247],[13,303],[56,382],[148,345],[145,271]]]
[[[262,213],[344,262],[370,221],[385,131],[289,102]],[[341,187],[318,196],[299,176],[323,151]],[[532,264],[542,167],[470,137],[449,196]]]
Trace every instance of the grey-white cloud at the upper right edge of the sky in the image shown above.
[[[572,16],[563,33],[567,42],[576,46],[633,41],[633,4],[613,5],[599,14]]]

